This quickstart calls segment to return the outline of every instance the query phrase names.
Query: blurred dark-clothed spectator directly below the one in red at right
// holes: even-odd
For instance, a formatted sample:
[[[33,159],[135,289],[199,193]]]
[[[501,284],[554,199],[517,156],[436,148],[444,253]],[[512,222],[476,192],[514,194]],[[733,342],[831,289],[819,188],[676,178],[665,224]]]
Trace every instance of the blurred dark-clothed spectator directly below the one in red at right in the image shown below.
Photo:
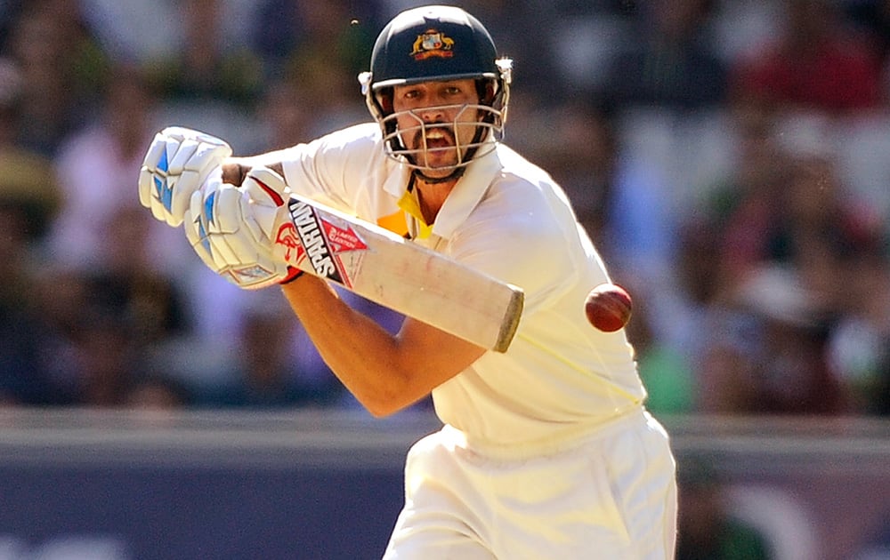
[[[734,171],[694,219],[716,243],[716,292],[732,292],[763,264],[795,268],[830,315],[843,287],[842,259],[882,236],[878,215],[843,182],[821,116],[741,125]]]

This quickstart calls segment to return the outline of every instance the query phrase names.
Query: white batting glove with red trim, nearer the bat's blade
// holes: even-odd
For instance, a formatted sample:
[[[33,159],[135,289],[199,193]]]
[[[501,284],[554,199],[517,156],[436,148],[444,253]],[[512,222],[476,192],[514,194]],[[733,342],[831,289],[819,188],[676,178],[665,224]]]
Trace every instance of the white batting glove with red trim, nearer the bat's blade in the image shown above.
[[[186,236],[207,267],[232,284],[257,290],[287,282],[300,274],[287,264],[292,236],[281,244],[276,232],[289,222],[289,192],[279,175],[262,167],[248,172],[241,187],[213,172],[191,196]]]

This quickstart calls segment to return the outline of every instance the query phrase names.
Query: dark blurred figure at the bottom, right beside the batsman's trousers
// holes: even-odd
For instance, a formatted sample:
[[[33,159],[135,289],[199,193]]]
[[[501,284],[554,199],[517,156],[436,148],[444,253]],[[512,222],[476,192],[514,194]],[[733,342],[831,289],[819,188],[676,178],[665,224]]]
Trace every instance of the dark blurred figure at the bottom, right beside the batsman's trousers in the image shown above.
[[[676,560],[771,560],[769,541],[732,515],[725,485],[708,460],[677,463],[679,518]]]

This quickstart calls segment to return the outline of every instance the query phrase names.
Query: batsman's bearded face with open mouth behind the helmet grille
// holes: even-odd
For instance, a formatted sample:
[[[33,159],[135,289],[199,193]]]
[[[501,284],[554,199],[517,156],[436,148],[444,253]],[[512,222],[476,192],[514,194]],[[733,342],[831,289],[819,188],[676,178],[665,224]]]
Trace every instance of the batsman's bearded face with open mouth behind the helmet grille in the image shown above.
[[[392,109],[402,143],[415,162],[447,176],[473,141],[479,96],[472,79],[401,85]]]

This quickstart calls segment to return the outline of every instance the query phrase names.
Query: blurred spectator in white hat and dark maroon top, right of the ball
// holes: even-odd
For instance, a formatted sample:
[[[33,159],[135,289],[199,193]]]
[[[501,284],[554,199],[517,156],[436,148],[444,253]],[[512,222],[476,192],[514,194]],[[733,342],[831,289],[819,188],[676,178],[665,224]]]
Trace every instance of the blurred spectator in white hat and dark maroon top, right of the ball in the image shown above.
[[[843,392],[826,360],[820,301],[797,271],[763,266],[711,303],[698,364],[702,412],[837,414]]]

